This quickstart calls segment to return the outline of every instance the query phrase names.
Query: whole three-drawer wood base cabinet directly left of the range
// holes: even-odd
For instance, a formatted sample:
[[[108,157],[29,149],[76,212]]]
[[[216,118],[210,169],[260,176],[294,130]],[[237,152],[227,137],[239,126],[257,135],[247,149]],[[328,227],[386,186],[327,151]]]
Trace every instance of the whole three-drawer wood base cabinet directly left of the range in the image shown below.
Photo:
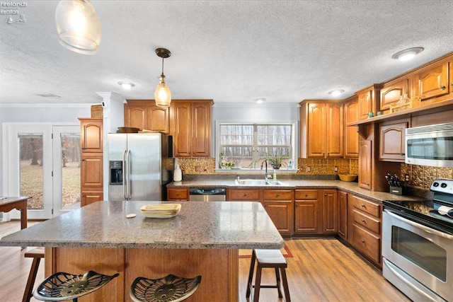
[[[348,196],[348,242],[382,267],[382,204],[355,194]]]

